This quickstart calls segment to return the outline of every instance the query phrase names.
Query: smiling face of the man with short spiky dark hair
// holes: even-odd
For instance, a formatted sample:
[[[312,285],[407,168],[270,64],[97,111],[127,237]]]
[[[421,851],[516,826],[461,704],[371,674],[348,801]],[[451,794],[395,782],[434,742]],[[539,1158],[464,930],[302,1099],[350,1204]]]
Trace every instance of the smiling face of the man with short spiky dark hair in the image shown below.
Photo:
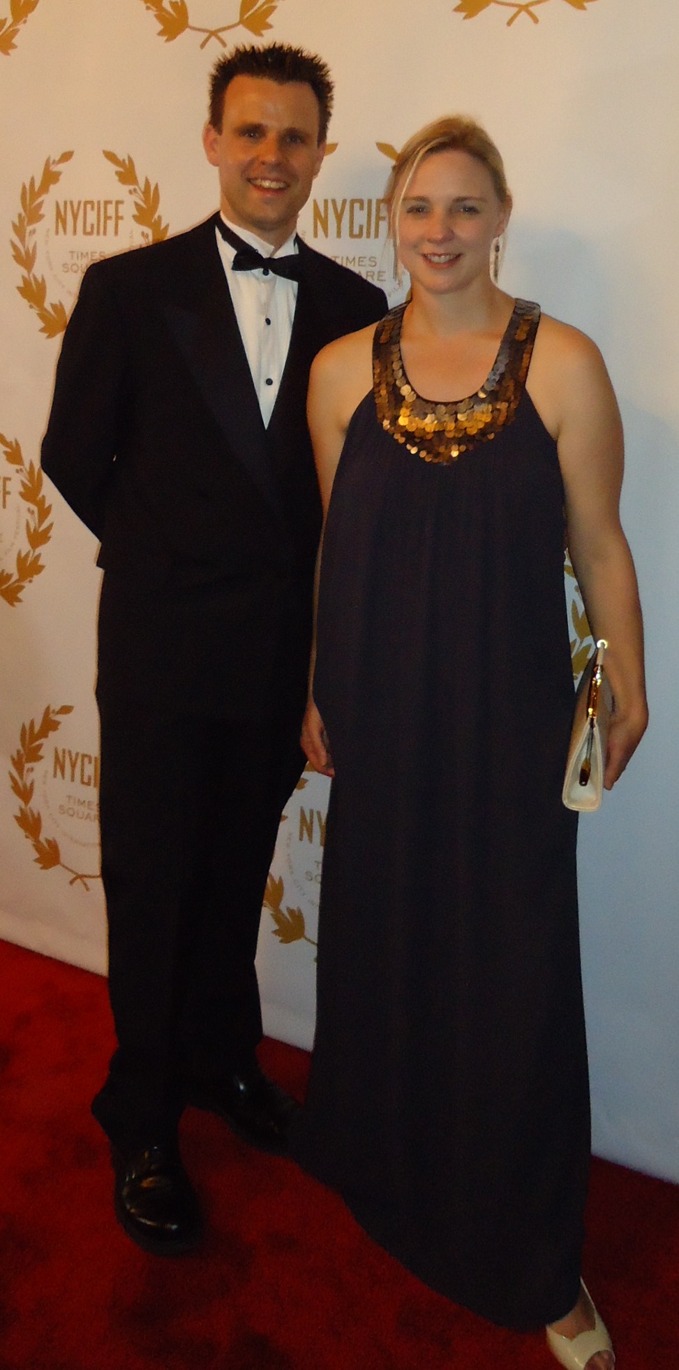
[[[205,155],[219,170],[222,211],[274,248],[293,233],[326,151],[309,85],[238,75],[225,92],[222,129],[207,125]]]

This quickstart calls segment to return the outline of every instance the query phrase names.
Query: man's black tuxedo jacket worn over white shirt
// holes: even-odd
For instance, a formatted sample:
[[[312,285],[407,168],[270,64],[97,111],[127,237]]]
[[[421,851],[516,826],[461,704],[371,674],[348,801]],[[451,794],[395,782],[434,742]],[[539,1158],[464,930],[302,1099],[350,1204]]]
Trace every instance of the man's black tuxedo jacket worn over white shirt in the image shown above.
[[[215,218],[92,266],[56,371],[42,469],[100,538],[99,689],[257,711],[308,645],[320,503],[309,366],[382,290],[300,242],[304,275],[264,429]]]

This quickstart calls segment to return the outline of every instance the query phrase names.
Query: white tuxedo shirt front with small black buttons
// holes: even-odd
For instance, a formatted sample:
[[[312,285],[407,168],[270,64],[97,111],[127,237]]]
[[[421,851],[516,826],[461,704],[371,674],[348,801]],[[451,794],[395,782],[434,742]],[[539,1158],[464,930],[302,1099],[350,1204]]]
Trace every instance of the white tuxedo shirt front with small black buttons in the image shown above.
[[[226,215],[222,215],[222,219],[244,242],[261,252],[261,256],[289,256],[297,252],[294,233],[272,252],[271,244],[264,242],[256,233],[238,227]],[[261,267],[253,271],[234,271],[234,248],[222,237],[219,229],[215,229],[215,236],[261,418],[264,427],[268,427],[290,347],[297,281],[287,281],[286,277],[274,275],[272,271],[264,275]]]

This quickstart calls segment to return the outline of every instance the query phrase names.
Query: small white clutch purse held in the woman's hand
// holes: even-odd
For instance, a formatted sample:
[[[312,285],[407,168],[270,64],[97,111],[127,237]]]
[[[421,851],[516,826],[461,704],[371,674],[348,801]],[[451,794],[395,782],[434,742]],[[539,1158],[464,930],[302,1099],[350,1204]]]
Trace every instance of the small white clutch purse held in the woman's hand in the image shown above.
[[[601,637],[575,693],[574,726],[561,799],[567,808],[576,808],[583,814],[600,808],[604,795],[608,726],[613,712],[613,696],[604,673],[606,647],[606,640]]]

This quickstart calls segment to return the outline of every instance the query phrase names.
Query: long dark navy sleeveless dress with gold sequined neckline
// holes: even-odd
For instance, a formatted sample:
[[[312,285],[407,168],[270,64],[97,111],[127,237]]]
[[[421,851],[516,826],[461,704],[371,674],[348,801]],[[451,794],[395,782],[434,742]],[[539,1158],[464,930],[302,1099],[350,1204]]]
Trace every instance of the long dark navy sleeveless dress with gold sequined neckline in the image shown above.
[[[504,1326],[579,1291],[590,1129],[556,444],[517,301],[486,385],[409,385],[378,325],[330,501],[315,699],[335,766],[297,1159]]]

